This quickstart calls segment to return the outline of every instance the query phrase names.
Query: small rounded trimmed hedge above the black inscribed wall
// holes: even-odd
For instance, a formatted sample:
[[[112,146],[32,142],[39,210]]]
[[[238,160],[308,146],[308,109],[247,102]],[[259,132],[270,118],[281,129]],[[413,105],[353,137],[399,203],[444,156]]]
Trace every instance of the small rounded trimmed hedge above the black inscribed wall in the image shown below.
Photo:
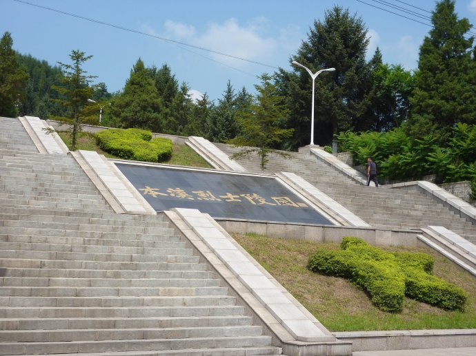
[[[172,156],[172,140],[143,129],[105,129],[96,134],[104,151],[126,160],[161,162]]]

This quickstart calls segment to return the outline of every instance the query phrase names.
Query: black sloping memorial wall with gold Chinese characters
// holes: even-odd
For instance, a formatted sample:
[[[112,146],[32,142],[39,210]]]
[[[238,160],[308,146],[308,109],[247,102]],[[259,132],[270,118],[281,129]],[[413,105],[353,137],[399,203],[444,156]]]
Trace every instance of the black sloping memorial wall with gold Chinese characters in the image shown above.
[[[177,207],[230,220],[332,224],[276,178],[115,165],[156,211]]]

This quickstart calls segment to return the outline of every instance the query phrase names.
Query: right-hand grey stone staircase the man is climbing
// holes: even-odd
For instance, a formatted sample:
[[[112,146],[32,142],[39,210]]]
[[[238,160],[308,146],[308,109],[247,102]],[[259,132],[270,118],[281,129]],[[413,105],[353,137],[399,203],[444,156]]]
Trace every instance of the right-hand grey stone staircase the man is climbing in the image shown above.
[[[231,145],[214,144],[228,155],[239,151],[239,148]],[[288,171],[301,176],[373,227],[419,229],[428,225],[441,225],[476,243],[475,225],[420,191],[385,186],[369,188],[359,185],[313,155],[297,152],[291,155],[292,159],[288,160],[271,154],[264,172]],[[238,160],[238,163],[250,172],[263,173],[256,155]]]

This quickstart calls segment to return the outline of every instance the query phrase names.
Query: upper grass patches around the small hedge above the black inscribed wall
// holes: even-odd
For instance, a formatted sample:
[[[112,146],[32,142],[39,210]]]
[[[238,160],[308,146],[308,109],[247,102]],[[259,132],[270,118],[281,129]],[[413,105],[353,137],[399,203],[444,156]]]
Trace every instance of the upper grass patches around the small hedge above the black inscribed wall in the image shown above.
[[[58,132],[59,136],[64,143],[71,149],[71,133],[70,132]],[[77,135],[77,144],[76,149],[84,149],[86,151],[97,151],[98,154],[103,154],[107,158],[117,158],[112,154],[108,154],[101,150],[96,145],[96,138],[94,134],[89,132],[79,132]],[[161,162],[166,165],[179,165],[179,166],[188,166],[188,167],[202,167],[202,168],[212,168],[204,158],[201,158],[193,149],[186,145],[173,145],[172,147],[172,157],[170,160]]]

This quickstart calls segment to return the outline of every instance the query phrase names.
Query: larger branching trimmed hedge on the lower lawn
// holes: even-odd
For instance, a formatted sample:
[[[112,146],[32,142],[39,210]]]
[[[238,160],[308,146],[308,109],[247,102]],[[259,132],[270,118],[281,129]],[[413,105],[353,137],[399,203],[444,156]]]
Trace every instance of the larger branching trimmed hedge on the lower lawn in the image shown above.
[[[459,311],[467,299],[462,289],[431,275],[432,256],[391,253],[360,238],[343,238],[341,250],[318,249],[310,256],[308,269],[350,280],[370,295],[375,306],[390,313],[401,312],[405,295]]]

